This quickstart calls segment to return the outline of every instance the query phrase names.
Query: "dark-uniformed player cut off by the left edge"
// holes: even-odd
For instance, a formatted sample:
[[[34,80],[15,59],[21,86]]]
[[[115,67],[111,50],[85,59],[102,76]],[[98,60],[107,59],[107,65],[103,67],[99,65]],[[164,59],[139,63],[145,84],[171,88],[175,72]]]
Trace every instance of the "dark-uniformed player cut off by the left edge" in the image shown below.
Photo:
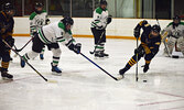
[[[0,12],[0,57],[1,57],[1,76],[4,79],[12,79],[13,76],[8,74],[10,64],[10,48],[2,42],[4,40],[9,45],[14,45],[12,37],[14,28],[14,8],[11,3],[4,3]]]

